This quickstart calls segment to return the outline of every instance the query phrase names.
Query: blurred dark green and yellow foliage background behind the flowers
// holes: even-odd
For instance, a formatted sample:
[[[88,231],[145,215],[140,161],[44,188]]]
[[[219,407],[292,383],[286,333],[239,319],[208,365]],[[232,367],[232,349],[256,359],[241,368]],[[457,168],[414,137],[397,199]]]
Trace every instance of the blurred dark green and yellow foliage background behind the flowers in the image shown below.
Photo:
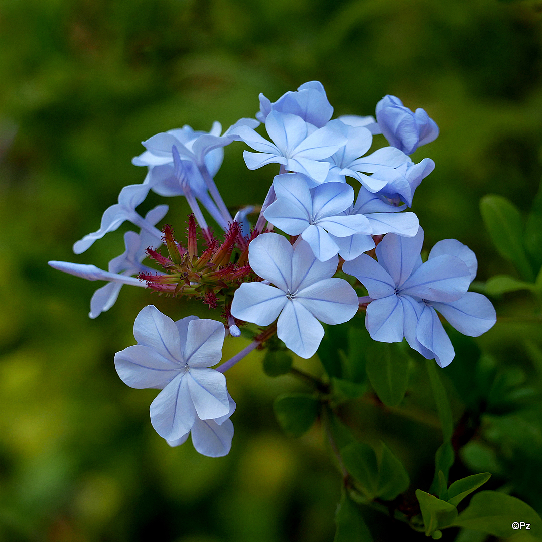
[[[205,307],[125,287],[90,320],[101,283],[46,262],[106,267],[121,253],[128,224],[81,256],[71,247],[98,229],[122,186],[143,181],[130,163],[141,140],[184,124],[227,127],[254,116],[260,92],[276,100],[317,79],[337,115],[374,114],[388,93],[425,108],[441,129],[414,155],[436,163],[412,208],[425,247],[457,238],[478,255],[478,280],[514,274],[493,249],[478,203],[499,193],[527,212],[538,190],[541,21],[539,1],[1,0],[0,539],[331,541],[340,483],[321,430],[284,436],[271,406],[300,384],[266,377],[254,353],[228,373],[238,404],[230,455],[203,457],[190,443],[171,449],[149,421],[156,391],[122,384],[113,356],[134,343],[145,305],[172,318],[204,317]],[[232,209],[260,203],[276,170],[248,171],[243,148],[226,147],[216,177]],[[165,201],[167,220],[182,231],[187,208],[177,199]],[[142,214],[163,202],[151,195]],[[533,382],[524,343],[540,341],[540,326],[513,319],[532,314],[533,302],[522,293],[495,302],[505,318],[478,344],[493,354],[488,363]],[[227,340],[224,357],[244,341]],[[446,382],[460,416],[451,383],[472,367],[458,358]],[[317,360],[296,363],[321,371]],[[415,395],[427,396],[418,380]],[[490,470],[488,488],[510,483],[540,512],[542,415],[533,404],[527,414],[490,412],[461,468]],[[437,428],[365,404],[348,416],[360,439],[385,437],[427,489]],[[368,518],[377,520],[376,540],[423,536]]]

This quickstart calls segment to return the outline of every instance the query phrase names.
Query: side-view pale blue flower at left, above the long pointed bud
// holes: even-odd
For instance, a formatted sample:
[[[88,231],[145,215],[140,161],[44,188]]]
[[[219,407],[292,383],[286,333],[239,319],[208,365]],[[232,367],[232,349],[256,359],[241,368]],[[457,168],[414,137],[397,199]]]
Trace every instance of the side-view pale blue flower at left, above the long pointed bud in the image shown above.
[[[100,223],[100,229],[92,234],[85,235],[81,240],[74,243],[73,251],[75,254],[81,254],[88,250],[94,244],[94,241],[101,239],[110,231],[117,230],[125,221],[130,221],[145,230],[151,236],[160,238],[162,233],[154,228],[154,224],[145,220],[141,215],[135,212],[135,208],[143,203],[149,193],[149,184],[131,184],[125,186],[119,194],[118,203],[108,207]]]

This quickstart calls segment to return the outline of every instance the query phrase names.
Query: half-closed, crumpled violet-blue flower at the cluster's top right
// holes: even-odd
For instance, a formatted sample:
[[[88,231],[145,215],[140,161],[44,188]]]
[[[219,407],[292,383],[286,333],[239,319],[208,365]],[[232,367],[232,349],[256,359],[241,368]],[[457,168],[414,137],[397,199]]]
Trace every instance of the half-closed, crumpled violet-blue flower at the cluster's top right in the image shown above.
[[[390,145],[412,154],[438,136],[438,126],[421,108],[413,113],[396,96],[386,95],[376,105],[378,126]]]

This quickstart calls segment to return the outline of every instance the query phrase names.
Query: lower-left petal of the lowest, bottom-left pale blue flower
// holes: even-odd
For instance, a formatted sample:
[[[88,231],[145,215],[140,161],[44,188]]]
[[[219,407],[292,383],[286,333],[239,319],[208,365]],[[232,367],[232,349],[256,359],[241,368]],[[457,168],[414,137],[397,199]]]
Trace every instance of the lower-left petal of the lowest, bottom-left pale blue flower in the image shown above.
[[[196,409],[190,398],[186,374],[179,375],[151,403],[151,423],[156,432],[168,441],[182,438],[192,429]]]

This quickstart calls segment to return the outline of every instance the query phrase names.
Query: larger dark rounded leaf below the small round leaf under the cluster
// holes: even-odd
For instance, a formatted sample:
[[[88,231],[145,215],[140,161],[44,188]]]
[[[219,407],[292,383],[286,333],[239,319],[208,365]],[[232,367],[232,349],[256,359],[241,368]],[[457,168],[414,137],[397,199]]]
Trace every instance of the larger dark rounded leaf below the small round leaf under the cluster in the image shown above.
[[[275,399],[273,410],[282,430],[299,437],[314,423],[318,415],[318,401],[303,393],[282,395]]]

